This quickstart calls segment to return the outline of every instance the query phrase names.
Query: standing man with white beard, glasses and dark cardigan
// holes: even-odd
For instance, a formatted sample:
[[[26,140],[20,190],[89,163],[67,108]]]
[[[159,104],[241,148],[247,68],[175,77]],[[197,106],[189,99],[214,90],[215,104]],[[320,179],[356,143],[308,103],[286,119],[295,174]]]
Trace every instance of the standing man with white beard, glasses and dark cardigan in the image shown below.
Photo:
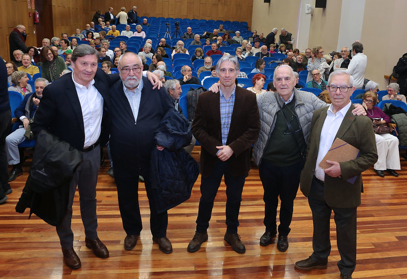
[[[151,189],[150,154],[154,133],[162,117],[175,109],[164,88],[153,89],[142,77],[143,63],[139,55],[126,52],[119,60],[120,80],[111,87],[112,106],[110,116],[110,148],[114,162],[120,214],[126,232],[124,248],[131,250],[137,244],[142,230],[139,207],[139,175],[144,177],[150,204],[150,228],[153,241],[161,252],[172,253],[172,245],[166,237],[168,214],[157,213],[156,201]]]

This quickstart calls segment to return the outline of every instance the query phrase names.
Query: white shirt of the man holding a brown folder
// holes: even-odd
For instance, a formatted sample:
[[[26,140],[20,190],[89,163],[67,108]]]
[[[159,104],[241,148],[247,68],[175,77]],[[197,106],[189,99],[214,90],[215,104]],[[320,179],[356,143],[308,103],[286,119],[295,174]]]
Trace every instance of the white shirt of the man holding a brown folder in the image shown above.
[[[332,104],[327,110],[327,118],[323,122],[321,136],[319,138],[319,149],[318,157],[316,159],[315,165],[315,177],[321,181],[325,181],[325,173],[318,165],[322,161],[323,157],[327,155],[328,150],[331,148],[334,143],[336,134],[338,133],[339,127],[342,124],[345,114],[349,110],[349,107],[352,103],[349,101],[342,109],[336,112],[336,115],[332,111]]]

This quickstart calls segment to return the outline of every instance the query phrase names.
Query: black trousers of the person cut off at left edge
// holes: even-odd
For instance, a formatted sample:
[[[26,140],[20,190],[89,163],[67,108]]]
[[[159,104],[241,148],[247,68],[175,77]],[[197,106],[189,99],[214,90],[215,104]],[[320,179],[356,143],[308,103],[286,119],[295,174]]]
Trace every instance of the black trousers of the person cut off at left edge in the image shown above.
[[[10,109],[0,114],[0,197],[3,190],[9,188],[9,169],[6,153],[6,136],[10,133],[11,111]]]

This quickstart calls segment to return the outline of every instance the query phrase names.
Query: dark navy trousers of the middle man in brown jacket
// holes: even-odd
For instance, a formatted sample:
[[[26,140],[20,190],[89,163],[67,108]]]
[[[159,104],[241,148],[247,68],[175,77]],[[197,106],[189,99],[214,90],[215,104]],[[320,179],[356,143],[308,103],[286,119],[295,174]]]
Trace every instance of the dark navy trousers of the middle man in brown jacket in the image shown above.
[[[197,232],[202,233],[209,227],[212,214],[213,201],[221,185],[222,177],[226,184],[226,232],[237,234],[239,226],[239,210],[241,193],[245,185],[246,176],[232,176],[227,171],[227,162],[221,160],[216,163],[213,173],[208,177],[201,178],[201,200],[199,201]]]

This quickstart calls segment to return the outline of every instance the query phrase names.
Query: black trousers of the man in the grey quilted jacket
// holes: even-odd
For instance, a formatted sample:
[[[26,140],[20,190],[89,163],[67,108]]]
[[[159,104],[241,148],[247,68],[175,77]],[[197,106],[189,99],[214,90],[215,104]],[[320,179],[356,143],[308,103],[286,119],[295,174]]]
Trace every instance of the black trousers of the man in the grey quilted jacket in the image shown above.
[[[279,235],[290,233],[290,224],[294,206],[294,199],[300,184],[302,163],[290,166],[276,166],[267,160],[261,160],[259,176],[263,184],[264,195],[264,226],[267,232],[277,229],[277,207],[280,205]]]

